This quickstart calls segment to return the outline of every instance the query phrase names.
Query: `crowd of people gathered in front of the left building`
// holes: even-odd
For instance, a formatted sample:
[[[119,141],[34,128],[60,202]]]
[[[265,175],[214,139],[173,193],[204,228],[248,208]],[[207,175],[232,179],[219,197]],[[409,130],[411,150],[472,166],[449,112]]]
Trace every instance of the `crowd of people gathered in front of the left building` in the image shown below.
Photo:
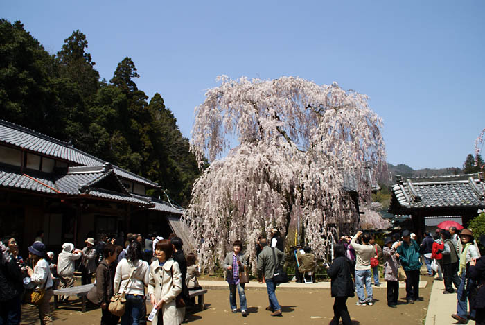
[[[46,252],[39,231],[33,245],[28,247],[28,259],[19,255],[15,238],[0,242],[0,325],[20,324],[21,304],[38,308],[40,324],[52,324],[50,301],[55,281],[58,288],[74,286],[75,272],[81,275],[81,285],[96,283],[87,293],[91,303],[100,306],[100,324],[145,324],[146,299],[156,311],[152,324],[179,325],[184,321],[188,290],[198,290],[200,267],[197,257],[185,256],[182,239],[170,234],[168,239],[150,234],[143,241],[139,234],[127,234],[121,245],[119,238],[100,234],[85,240],[85,247],[75,248],[64,243],[57,260],[53,252]],[[109,310],[112,297],[123,295],[125,313],[121,317]],[[60,303],[69,304],[69,296],[59,297]],[[179,301],[180,304],[179,304]]]

